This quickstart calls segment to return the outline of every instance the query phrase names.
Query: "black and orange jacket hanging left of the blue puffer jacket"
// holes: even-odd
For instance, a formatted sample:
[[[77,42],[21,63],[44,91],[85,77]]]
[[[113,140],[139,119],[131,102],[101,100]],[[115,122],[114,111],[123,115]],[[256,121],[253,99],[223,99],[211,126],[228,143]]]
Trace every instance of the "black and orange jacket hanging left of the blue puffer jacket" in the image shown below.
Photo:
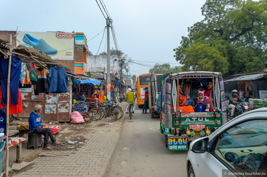
[[[39,93],[49,94],[49,76],[47,69],[40,67],[37,69],[37,82],[34,83],[34,93],[38,95]]]

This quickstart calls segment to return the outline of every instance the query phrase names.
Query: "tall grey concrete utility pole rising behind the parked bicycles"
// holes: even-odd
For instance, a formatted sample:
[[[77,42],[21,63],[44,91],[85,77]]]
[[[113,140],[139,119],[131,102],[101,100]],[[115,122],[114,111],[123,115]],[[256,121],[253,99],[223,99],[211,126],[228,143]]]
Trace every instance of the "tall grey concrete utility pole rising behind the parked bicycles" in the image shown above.
[[[106,27],[107,27],[107,70],[106,70],[106,98],[110,100],[110,42],[109,42],[109,27],[110,27],[110,19],[109,17],[106,18]]]

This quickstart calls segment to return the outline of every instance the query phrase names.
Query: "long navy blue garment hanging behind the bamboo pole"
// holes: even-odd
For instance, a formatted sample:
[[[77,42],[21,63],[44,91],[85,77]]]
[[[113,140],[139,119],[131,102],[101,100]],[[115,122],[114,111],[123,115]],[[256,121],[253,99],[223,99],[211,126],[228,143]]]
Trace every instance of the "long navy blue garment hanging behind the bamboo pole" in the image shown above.
[[[10,67],[10,98],[11,105],[17,105],[18,101],[18,83],[21,72],[21,59],[17,56],[11,56],[11,67]],[[8,75],[8,64],[9,59],[5,59],[4,56],[0,57],[0,75],[1,75],[1,86],[2,86],[2,102],[6,104],[6,89],[7,89],[7,75]]]

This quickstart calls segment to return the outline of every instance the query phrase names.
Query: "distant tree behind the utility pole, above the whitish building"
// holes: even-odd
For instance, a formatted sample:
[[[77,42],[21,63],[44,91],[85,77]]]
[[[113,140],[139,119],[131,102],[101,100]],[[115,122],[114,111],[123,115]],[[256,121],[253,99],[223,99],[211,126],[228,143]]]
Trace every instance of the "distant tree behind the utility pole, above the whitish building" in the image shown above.
[[[107,55],[106,52],[101,52],[99,53],[99,55]],[[132,63],[132,58],[130,56],[128,56],[128,54],[125,54],[124,52],[122,52],[121,50],[119,50],[117,52],[116,49],[111,48],[110,49],[110,55],[117,55],[119,56],[120,60],[121,60],[121,64],[122,64],[122,69],[126,70],[129,69],[129,65]]]

